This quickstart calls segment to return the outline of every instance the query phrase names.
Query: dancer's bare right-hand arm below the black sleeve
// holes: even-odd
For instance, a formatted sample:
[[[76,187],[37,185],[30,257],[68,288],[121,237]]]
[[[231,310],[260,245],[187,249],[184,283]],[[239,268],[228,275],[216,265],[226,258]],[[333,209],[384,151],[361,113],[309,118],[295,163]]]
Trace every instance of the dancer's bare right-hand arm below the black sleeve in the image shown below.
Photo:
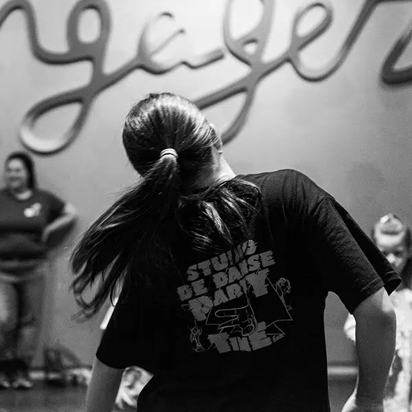
[[[382,401],[396,344],[396,314],[380,288],[354,310],[358,380],[343,412],[383,411]]]

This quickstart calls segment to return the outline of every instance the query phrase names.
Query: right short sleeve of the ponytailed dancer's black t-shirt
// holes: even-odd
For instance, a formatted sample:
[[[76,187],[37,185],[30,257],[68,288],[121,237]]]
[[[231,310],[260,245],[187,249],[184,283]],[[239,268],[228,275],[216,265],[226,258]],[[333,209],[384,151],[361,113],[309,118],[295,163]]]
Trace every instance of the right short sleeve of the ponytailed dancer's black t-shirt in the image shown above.
[[[390,294],[400,277],[374,242],[332,196],[308,208],[309,257],[328,291],[339,296],[350,313],[385,286]]]

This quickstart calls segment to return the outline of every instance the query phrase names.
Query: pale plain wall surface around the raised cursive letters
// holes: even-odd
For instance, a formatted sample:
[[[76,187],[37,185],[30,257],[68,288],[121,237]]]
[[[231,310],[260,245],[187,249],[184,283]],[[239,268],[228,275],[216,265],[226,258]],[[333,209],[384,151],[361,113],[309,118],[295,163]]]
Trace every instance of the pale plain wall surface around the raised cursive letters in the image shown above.
[[[0,0],[1,6],[8,3]],[[54,52],[67,52],[66,25],[76,1],[31,0],[41,45]],[[120,133],[124,115],[133,102],[151,91],[172,91],[198,99],[225,87],[249,73],[249,67],[229,53],[222,36],[225,2],[209,0],[107,0],[111,32],[103,69],[108,73],[133,58],[148,19],[159,12],[176,16],[157,23],[149,40],[157,41],[173,24],[185,27],[187,35],[176,38],[157,61],[193,49],[204,54],[220,48],[223,58],[192,70],[179,65],[162,76],[137,70],[106,89],[93,101],[80,135],[65,150],[53,155],[35,155],[41,187],[71,201],[80,220],[59,249],[52,251],[53,272],[47,283],[47,307],[42,343],[66,345],[85,363],[91,363],[100,337],[102,314],[78,325],[68,292],[71,273],[67,258],[82,230],[115,198],[116,192],[135,181],[126,161]],[[293,16],[308,1],[274,1],[273,26],[263,55],[265,62],[277,58],[290,45]],[[329,29],[301,53],[308,66],[323,67],[339,52],[363,5],[362,0],[333,0]],[[258,23],[260,1],[235,1],[231,32],[240,36]],[[313,10],[301,22],[301,32],[310,30],[324,12]],[[52,18],[51,18],[52,16]],[[236,172],[260,172],[296,168],[332,193],[369,231],[376,218],[389,211],[412,222],[410,153],[412,142],[412,83],[397,87],[382,84],[382,62],[412,18],[409,1],[389,1],[374,10],[353,49],[341,67],[322,82],[307,82],[287,63],[262,79],[247,122],[225,147]],[[95,12],[84,13],[80,38],[92,41],[100,24]],[[186,42],[186,43],[185,43]],[[399,66],[412,62],[408,47]],[[0,163],[11,150],[21,148],[19,125],[25,113],[40,100],[70,91],[89,82],[89,62],[47,65],[30,51],[25,14],[12,13],[0,28]],[[242,106],[244,95],[207,109],[209,119],[227,128]],[[70,126],[79,106],[60,108],[42,117],[35,133],[54,139]],[[331,274],[332,275],[332,274]],[[343,336],[345,308],[336,296],[328,298],[325,317],[331,363],[352,363],[354,354]],[[39,355],[36,363],[41,365]]]

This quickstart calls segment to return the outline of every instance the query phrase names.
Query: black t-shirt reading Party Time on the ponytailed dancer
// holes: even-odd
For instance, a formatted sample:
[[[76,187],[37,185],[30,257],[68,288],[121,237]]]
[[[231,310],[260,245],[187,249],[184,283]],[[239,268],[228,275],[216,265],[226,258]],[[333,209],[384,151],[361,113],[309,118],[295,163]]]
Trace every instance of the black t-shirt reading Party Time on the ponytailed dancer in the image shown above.
[[[237,176],[263,211],[231,255],[188,258],[176,298],[123,290],[97,357],[155,376],[139,412],[326,412],[323,312],[333,291],[353,310],[400,283],[330,194],[295,170]],[[127,298],[126,298],[127,296]]]

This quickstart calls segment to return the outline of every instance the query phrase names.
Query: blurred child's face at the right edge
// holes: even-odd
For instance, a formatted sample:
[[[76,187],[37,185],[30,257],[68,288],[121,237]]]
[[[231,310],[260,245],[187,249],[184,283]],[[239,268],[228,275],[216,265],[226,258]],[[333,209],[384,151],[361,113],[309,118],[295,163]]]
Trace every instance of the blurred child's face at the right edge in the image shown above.
[[[400,273],[409,258],[409,251],[404,242],[404,233],[399,235],[387,235],[384,233],[375,233],[376,245],[385,255],[385,258]]]

